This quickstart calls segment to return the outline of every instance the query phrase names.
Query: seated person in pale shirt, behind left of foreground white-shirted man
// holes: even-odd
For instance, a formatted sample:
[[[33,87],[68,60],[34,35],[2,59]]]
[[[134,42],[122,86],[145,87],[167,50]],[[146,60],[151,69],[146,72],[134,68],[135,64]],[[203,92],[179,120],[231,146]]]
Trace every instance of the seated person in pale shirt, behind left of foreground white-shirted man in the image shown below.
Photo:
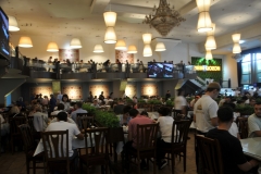
[[[37,132],[44,132],[48,125],[48,114],[42,113],[41,105],[35,105],[35,113],[34,116],[34,127]]]

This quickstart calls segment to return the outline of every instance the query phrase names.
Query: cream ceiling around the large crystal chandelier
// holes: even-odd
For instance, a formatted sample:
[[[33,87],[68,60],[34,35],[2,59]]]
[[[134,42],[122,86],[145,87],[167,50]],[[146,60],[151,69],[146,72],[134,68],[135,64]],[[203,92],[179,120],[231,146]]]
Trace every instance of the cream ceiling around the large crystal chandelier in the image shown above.
[[[197,32],[198,10],[195,0],[169,0],[171,5],[181,11],[186,22],[173,28],[170,38],[184,42],[203,45],[206,34]],[[44,35],[51,37],[103,37],[105,24],[102,13],[115,11],[117,38],[141,39],[145,32],[153,37],[161,37],[156,29],[142,24],[146,14],[159,5],[159,0],[1,0],[0,5],[8,15],[17,18],[21,30],[12,35]],[[215,53],[228,53],[232,49],[231,34],[245,27],[261,24],[261,0],[212,0],[210,8],[212,22],[216,24]],[[259,27],[246,41],[244,49],[260,47],[261,29]],[[229,36],[222,42],[223,36]],[[219,42],[220,41],[220,42]]]

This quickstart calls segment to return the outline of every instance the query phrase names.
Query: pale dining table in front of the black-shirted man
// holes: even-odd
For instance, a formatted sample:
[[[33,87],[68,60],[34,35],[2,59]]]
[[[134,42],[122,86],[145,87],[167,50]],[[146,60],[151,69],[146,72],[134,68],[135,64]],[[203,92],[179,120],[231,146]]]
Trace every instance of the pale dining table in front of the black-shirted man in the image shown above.
[[[244,154],[261,161],[261,137],[240,139]]]

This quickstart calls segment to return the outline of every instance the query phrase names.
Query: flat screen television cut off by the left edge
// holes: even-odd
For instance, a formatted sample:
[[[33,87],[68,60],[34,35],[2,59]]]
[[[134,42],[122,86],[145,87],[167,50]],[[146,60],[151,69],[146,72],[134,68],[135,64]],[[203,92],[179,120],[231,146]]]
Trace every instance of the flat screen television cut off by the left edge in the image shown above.
[[[9,49],[9,17],[0,7],[0,57],[10,59]]]

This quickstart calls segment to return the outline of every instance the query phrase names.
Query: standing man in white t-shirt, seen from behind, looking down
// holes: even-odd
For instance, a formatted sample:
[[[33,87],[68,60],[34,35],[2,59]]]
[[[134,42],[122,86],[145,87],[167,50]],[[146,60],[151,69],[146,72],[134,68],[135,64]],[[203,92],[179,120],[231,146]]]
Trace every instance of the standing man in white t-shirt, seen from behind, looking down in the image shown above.
[[[210,129],[217,126],[216,111],[219,105],[215,100],[221,90],[217,83],[209,84],[206,94],[194,107],[194,121],[197,124],[198,134],[206,135]]]

